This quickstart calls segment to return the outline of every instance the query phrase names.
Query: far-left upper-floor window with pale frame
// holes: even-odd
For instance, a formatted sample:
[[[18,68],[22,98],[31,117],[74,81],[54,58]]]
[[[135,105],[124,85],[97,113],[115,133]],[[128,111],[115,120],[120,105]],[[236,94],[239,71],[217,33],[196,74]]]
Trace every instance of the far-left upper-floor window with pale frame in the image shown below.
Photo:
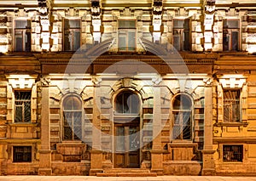
[[[31,20],[15,20],[15,51],[31,51]]]

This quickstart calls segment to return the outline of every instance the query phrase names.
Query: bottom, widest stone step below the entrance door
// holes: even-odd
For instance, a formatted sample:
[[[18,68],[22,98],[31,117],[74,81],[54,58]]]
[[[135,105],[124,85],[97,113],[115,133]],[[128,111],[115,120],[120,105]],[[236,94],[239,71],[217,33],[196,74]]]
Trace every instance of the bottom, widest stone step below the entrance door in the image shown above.
[[[156,173],[97,173],[97,177],[156,177]]]

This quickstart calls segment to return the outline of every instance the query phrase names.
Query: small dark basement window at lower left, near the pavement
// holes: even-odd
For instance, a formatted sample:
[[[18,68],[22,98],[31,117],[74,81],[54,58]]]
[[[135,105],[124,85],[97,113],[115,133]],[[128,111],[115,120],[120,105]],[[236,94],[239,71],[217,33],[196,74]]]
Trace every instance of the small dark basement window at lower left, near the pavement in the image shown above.
[[[14,162],[31,162],[31,146],[14,146]]]

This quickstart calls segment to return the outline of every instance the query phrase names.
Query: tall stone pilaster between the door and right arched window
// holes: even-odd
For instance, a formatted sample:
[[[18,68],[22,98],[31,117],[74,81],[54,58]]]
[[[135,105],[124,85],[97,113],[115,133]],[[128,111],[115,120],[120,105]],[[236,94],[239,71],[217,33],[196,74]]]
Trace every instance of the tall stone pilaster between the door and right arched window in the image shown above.
[[[163,175],[163,150],[161,148],[161,106],[160,87],[154,86],[153,145],[151,172]]]

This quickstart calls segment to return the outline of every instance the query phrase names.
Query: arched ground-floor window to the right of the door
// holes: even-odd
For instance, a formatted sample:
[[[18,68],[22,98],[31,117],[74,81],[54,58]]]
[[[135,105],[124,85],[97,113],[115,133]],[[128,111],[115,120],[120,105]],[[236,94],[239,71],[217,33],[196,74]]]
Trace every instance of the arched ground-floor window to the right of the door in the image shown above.
[[[185,94],[177,95],[173,100],[172,139],[191,139],[191,99]]]

